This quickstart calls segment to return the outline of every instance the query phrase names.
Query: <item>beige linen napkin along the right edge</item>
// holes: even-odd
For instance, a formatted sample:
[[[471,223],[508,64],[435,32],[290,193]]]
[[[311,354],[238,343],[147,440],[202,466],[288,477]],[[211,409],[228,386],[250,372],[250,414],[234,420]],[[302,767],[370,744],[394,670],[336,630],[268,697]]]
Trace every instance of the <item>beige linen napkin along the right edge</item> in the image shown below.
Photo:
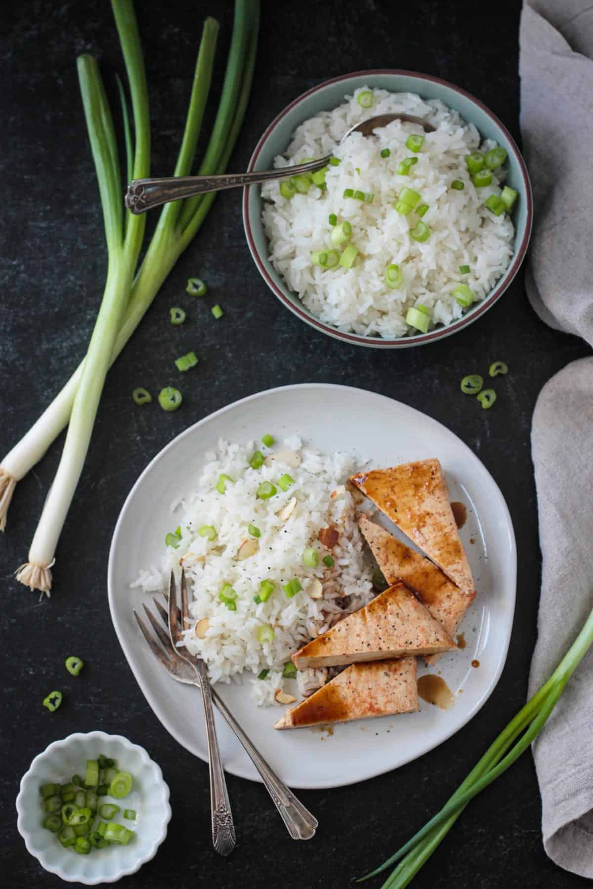
[[[533,180],[527,294],[541,319],[593,345],[593,4],[525,0],[521,128]],[[593,608],[593,358],[544,386],[532,453],[542,555],[529,691],[557,667]],[[593,651],[533,744],[543,843],[593,878]]]

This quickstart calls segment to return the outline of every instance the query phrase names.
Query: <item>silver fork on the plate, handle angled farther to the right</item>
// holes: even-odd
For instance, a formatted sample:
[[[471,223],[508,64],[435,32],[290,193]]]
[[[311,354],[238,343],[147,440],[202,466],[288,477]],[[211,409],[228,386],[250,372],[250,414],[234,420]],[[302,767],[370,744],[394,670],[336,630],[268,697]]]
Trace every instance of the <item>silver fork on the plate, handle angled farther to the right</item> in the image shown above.
[[[163,605],[158,602],[156,597],[153,597],[153,602],[156,606],[156,610],[166,624],[168,616]],[[138,621],[142,635],[148,642],[156,659],[163,664],[164,668],[174,679],[177,679],[178,682],[187,683],[189,685],[199,685],[196,669],[193,665],[190,665],[188,661],[184,661],[180,658],[177,651],[173,650],[171,640],[156,619],[155,615],[150,611],[147,605],[143,605],[143,607],[148,620],[163,647],[156,643],[155,638],[147,629],[144,621],[141,620],[135,611],[134,617],[136,618],[136,621]],[[304,840],[314,837],[318,823],[317,818],[309,812],[309,809],[302,805],[301,800],[294,796],[292,790],[286,787],[284,781],[281,781],[280,778],[278,778],[265,759],[260,756],[259,750],[253,746],[252,741],[249,740],[214,688],[212,688],[212,699],[220,710],[220,714],[226,719],[229,727],[235,733],[237,740],[242,744],[245,753],[250,757],[253,765],[260,773],[261,781],[263,781],[264,787],[268,790],[268,793],[272,798],[274,805],[276,805],[276,809],[278,810],[278,813],[280,813],[292,839]]]

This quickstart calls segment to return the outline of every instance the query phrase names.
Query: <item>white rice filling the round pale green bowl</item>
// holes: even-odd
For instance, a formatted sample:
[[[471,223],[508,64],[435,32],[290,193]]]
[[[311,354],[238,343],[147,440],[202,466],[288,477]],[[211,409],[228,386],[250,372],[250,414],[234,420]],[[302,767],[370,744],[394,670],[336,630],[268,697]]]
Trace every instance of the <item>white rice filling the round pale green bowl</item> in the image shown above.
[[[443,102],[413,93],[374,90],[372,108],[361,108],[360,92],[368,88],[301,124],[284,156],[276,157],[276,167],[330,154],[340,164],[328,166],[325,189],[312,184],[307,194],[297,192],[287,198],[280,193],[279,181],[262,186],[270,260],[304,305],[341,331],[387,338],[417,332],[406,324],[405,316],[419,304],[429,309],[430,327],[451,324],[464,312],[453,296],[455,287],[467,284],[475,300],[484,300],[509,266],[513,223],[508,213],[495,216],[485,207],[489,196],[501,194],[505,165],[493,170],[491,185],[476,188],[466,156],[478,149],[488,151],[495,143],[480,144],[473,124]],[[425,118],[437,130],[425,134],[417,124],[395,121],[376,130],[374,138],[353,133],[338,144],[351,126],[365,118],[397,112]],[[426,136],[416,153],[405,146],[411,133]],[[381,156],[386,148],[389,156]],[[418,163],[409,174],[398,175],[398,164],[409,157]],[[455,180],[463,188],[452,188]],[[403,215],[395,209],[402,188],[420,194],[418,206],[429,205],[421,218],[415,210]],[[372,193],[373,201],[345,197],[346,189]],[[311,261],[312,252],[336,249],[330,214],[338,224],[348,220],[352,226],[350,244],[358,251],[352,268],[323,268]],[[410,236],[419,220],[429,228],[429,238],[423,242]],[[385,282],[392,263],[403,273],[397,290]],[[469,266],[469,274],[461,274],[461,266]]]

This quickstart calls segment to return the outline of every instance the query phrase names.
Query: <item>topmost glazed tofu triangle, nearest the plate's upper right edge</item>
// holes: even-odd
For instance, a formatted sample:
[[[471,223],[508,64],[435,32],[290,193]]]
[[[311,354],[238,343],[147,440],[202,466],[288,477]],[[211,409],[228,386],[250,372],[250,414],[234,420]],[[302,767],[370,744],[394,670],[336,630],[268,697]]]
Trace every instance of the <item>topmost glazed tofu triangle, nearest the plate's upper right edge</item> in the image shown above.
[[[437,460],[373,469],[350,481],[468,596],[474,581]]]

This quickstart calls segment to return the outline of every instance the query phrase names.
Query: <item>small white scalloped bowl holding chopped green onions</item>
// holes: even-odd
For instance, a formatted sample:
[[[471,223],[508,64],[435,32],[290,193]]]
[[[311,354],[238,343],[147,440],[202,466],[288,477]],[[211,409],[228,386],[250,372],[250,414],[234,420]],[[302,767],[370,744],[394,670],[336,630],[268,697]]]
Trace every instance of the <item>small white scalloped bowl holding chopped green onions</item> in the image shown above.
[[[73,774],[81,773],[87,759],[96,759],[101,753],[116,759],[119,768],[133,776],[125,807],[136,810],[136,821],[126,822],[136,836],[128,845],[111,845],[79,855],[64,849],[56,835],[42,827],[39,788],[46,783],[70,781]],[[41,866],[68,883],[85,885],[115,883],[120,877],[134,874],[145,861],[154,858],[171,821],[169,788],[159,766],[144,748],[119,734],[104,732],[68,735],[35,757],[20,781],[17,812],[20,836]]]

